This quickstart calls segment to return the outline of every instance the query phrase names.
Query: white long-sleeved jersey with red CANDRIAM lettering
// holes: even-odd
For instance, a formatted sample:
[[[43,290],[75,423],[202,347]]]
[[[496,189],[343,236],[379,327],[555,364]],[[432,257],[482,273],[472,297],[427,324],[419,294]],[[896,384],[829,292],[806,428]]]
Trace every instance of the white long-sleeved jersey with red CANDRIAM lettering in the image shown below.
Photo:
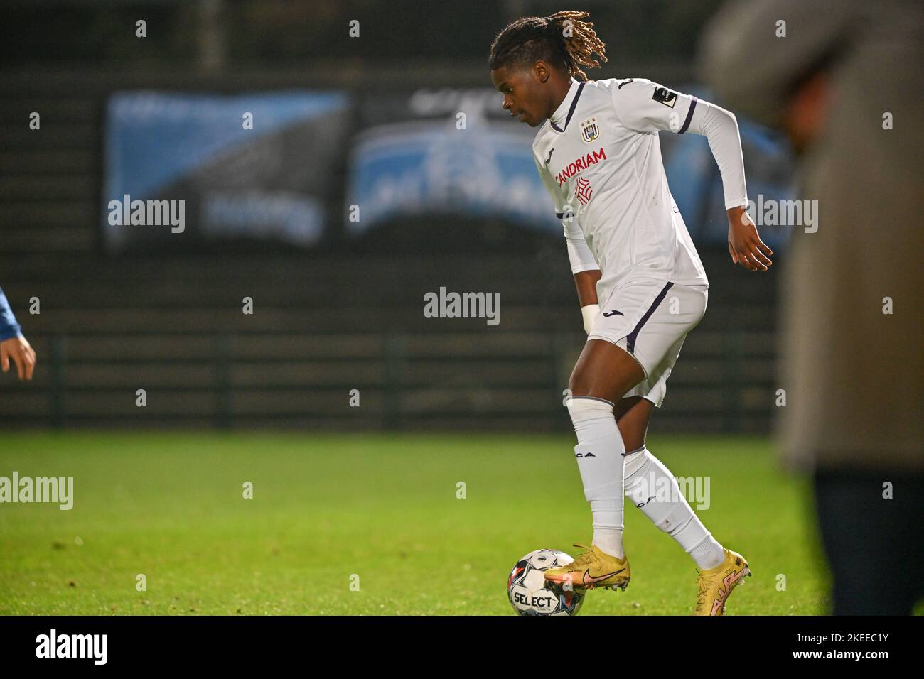
[[[707,128],[723,172],[726,207],[747,205],[748,199],[734,115],[702,103],[697,127],[690,127],[696,107],[695,97],[647,79],[571,79],[565,100],[536,134],[533,155],[565,225],[572,272],[601,270],[601,303],[638,275],[709,286],[667,186],[658,130],[706,134]],[[716,152],[717,146],[725,152]]]

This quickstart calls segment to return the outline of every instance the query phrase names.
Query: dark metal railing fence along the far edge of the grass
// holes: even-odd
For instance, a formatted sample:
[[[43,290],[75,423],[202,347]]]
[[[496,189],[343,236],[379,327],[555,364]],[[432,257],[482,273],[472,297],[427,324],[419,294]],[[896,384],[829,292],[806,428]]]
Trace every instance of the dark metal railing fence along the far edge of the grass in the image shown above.
[[[579,333],[69,333],[30,341],[34,382],[0,424],[320,430],[566,430]],[[699,329],[659,430],[770,430],[772,333]],[[139,405],[144,390],[145,405]]]

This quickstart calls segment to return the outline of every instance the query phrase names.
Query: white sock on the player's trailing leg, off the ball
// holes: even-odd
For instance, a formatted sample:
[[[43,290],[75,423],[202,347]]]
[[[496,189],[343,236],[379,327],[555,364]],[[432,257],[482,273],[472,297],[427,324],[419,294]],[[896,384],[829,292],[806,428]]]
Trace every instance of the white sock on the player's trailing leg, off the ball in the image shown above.
[[[663,497],[663,489],[667,487],[670,488],[669,497]],[[644,445],[626,454],[625,491],[626,497],[655,526],[684,548],[700,570],[714,568],[723,562],[722,545],[693,513],[674,475]]]

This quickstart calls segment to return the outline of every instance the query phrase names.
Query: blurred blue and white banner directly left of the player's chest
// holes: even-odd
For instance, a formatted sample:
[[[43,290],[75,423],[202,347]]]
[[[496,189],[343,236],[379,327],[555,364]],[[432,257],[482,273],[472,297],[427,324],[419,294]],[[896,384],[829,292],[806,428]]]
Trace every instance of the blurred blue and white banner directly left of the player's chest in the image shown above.
[[[501,220],[561,234],[531,144],[491,88],[367,96],[349,154],[345,228],[421,216]],[[359,206],[359,214],[356,208]],[[432,237],[440,238],[439,219]]]

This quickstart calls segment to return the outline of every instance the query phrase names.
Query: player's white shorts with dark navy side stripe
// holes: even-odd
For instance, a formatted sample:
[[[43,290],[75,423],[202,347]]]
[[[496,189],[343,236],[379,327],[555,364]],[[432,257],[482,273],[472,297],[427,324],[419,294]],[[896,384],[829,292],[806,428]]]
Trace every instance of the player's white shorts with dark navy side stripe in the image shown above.
[[[622,347],[645,371],[642,381],[624,398],[642,396],[661,407],[680,347],[705,315],[708,299],[706,285],[634,278],[600,303],[587,338]]]

